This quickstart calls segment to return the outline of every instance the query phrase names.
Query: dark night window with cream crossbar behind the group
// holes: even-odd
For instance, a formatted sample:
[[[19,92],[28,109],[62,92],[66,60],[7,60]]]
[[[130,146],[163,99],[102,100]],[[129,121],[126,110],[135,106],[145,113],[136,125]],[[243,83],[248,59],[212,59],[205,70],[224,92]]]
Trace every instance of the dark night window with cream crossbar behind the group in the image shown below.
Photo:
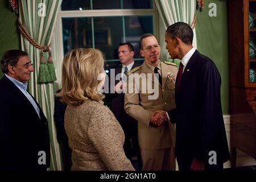
[[[119,43],[133,44],[135,60],[143,60],[139,39],[154,34],[155,9],[152,0],[63,0],[60,18],[64,55],[76,47],[98,48],[112,68],[119,64]]]

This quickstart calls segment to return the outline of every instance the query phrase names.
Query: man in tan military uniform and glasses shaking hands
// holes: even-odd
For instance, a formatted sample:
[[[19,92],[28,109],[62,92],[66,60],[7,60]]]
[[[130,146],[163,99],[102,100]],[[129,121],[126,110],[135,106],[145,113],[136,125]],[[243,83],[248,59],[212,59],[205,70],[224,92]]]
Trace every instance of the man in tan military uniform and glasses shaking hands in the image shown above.
[[[177,65],[159,60],[160,46],[152,34],[142,35],[140,53],[144,63],[127,74],[125,110],[138,121],[142,170],[174,170],[175,126],[159,110],[175,107]],[[156,78],[157,73],[162,79]],[[142,81],[135,81],[138,77]]]

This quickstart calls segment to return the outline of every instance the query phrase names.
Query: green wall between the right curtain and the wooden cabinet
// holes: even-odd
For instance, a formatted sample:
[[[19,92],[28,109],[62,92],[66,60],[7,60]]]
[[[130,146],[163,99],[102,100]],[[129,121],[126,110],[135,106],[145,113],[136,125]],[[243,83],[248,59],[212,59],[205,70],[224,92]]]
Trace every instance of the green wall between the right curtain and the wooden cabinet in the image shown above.
[[[210,17],[209,3],[217,6],[217,16]],[[229,114],[228,9],[225,0],[205,0],[205,9],[196,11],[197,49],[210,57],[220,72],[223,114]]]

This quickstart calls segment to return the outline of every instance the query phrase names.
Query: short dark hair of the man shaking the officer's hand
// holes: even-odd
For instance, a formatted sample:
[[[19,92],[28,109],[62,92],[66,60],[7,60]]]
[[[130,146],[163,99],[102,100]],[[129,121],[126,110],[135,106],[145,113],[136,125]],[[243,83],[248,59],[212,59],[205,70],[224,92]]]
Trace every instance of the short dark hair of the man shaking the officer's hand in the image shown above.
[[[193,42],[193,30],[187,23],[174,23],[167,28],[166,32],[170,38],[180,38],[187,45],[191,45]]]

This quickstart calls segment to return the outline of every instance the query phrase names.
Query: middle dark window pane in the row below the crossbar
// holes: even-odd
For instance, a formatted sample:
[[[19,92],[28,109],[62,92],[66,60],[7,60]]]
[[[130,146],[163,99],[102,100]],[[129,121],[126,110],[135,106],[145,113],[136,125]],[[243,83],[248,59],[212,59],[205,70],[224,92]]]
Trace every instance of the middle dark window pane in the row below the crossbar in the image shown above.
[[[118,59],[117,49],[122,43],[122,17],[100,17],[94,20],[95,48],[105,53],[106,59]]]

